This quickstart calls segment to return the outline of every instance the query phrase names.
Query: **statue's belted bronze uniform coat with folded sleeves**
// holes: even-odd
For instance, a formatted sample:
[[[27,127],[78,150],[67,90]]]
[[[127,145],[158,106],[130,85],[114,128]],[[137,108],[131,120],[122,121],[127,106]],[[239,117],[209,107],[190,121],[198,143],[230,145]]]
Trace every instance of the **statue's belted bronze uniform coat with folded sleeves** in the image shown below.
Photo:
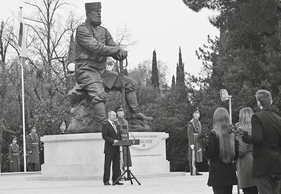
[[[112,88],[118,73],[105,70],[106,56],[115,56],[119,49],[107,29],[86,20],[77,28],[74,50],[75,76],[80,88],[94,82]]]

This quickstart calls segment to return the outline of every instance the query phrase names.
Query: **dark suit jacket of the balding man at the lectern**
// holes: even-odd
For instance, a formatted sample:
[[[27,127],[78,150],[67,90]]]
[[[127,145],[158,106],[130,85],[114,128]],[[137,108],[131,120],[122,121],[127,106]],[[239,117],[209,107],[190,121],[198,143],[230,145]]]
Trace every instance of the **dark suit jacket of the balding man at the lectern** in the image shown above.
[[[118,154],[120,153],[119,146],[113,146],[114,140],[122,140],[120,130],[117,130],[117,134],[113,126],[107,121],[102,125],[102,136],[105,140],[105,154]]]

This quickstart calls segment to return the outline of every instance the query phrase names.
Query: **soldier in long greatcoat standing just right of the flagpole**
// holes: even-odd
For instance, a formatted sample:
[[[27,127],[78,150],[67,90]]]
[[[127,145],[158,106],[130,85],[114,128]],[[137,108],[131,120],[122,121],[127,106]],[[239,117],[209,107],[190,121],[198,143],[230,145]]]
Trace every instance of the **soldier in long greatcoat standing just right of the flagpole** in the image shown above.
[[[39,139],[36,134],[36,128],[33,126],[31,128],[31,133],[27,136],[27,151],[28,151],[28,159],[31,171],[38,171],[38,167],[36,169],[36,164],[39,164]]]

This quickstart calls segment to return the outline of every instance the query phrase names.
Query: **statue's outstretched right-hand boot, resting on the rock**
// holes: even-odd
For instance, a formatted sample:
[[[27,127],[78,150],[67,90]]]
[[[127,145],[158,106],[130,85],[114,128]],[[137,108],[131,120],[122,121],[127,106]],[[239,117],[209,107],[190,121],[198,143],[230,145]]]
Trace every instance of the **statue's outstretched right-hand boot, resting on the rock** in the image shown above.
[[[135,91],[126,92],[125,100],[131,111],[132,120],[151,121],[153,119],[152,117],[146,117],[140,113],[140,108],[139,108],[139,104],[137,101],[137,95],[136,95]]]

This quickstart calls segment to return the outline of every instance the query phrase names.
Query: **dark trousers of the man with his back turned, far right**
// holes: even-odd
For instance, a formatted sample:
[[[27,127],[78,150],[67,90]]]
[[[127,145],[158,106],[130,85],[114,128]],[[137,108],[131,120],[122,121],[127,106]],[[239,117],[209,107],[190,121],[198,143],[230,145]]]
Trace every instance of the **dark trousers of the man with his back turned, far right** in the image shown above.
[[[279,194],[279,175],[255,177],[259,194]]]

